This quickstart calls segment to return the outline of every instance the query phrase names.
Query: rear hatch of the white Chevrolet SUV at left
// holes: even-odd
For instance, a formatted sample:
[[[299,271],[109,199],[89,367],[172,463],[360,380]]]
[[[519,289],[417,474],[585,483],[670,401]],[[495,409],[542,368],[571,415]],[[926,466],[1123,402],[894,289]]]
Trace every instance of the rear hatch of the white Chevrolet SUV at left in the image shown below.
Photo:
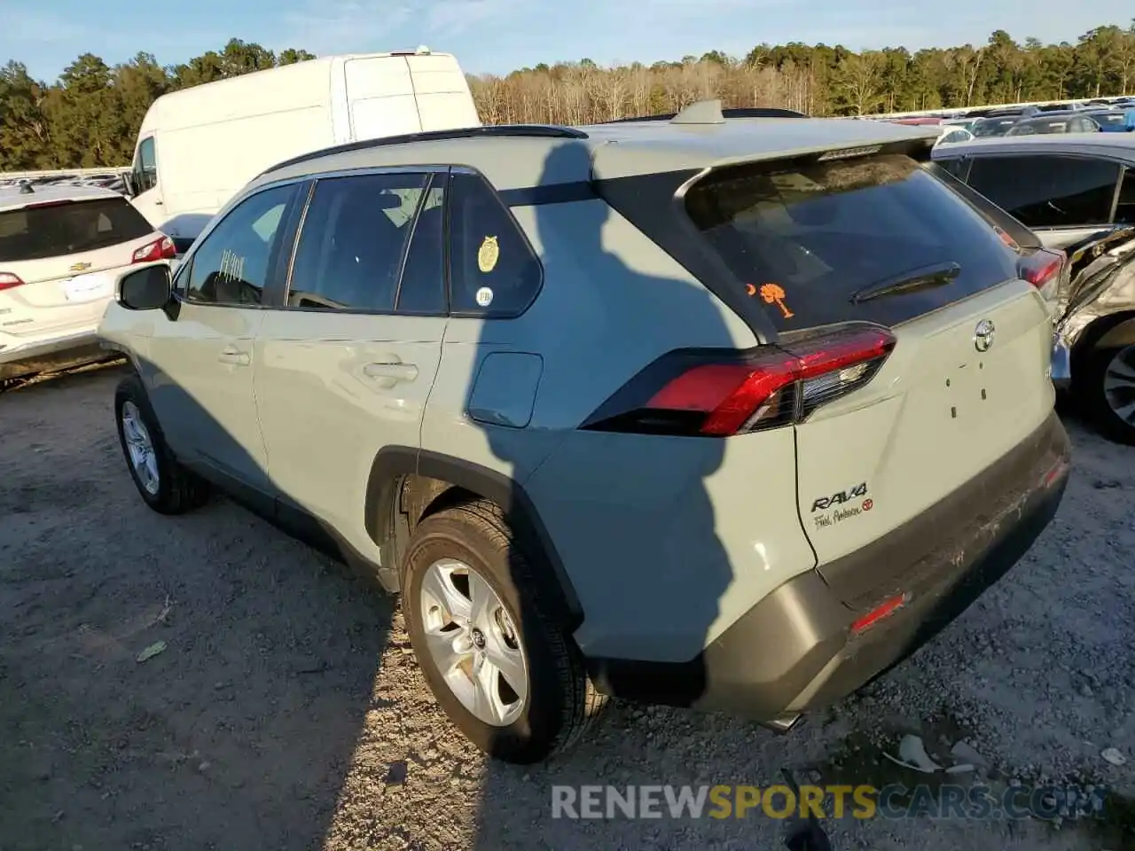
[[[96,320],[117,271],[160,238],[124,197],[0,210],[0,273],[23,281],[0,288],[0,331],[32,336]]]

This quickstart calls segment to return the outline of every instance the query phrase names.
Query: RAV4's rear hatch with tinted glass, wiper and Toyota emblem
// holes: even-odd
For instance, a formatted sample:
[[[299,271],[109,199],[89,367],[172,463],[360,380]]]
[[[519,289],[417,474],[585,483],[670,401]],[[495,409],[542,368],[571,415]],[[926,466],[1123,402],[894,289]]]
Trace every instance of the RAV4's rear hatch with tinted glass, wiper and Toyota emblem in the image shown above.
[[[691,187],[687,211],[779,345],[844,322],[897,339],[869,384],[794,427],[805,532],[825,579],[859,606],[878,573],[825,568],[980,477],[1050,415],[1044,302],[1019,278],[1012,241],[902,154],[723,169]]]

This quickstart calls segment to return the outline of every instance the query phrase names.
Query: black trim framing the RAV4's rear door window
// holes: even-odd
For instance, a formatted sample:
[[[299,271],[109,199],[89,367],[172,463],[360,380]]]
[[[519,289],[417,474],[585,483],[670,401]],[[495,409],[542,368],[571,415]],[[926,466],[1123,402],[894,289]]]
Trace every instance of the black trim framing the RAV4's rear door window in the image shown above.
[[[444,311],[444,312],[436,312],[436,311],[432,311],[432,312],[424,312],[424,311],[421,311],[421,312],[411,312],[411,311],[401,311],[401,310],[397,310],[397,295],[402,292],[402,273],[403,273],[403,271],[405,271],[405,262],[406,262],[406,258],[407,258],[409,252],[410,252],[410,243],[413,239],[414,230],[418,227],[418,214],[419,214],[419,212],[421,210],[421,204],[424,203],[426,195],[429,192],[429,189],[434,186],[434,182],[435,182],[435,179],[437,179],[438,175],[442,175],[443,179],[445,179],[445,182],[446,182],[445,189],[446,189],[446,192],[448,191],[448,174],[449,174],[449,171],[451,171],[451,167],[449,166],[445,166],[445,165],[375,166],[375,167],[365,167],[365,168],[335,169],[333,171],[319,171],[319,172],[306,175],[303,178],[301,178],[301,179],[304,179],[304,180],[310,180],[311,182],[311,186],[308,189],[306,197],[303,199],[302,203],[297,205],[299,209],[297,209],[297,214],[295,217],[295,231],[289,235],[291,239],[292,239],[292,243],[291,243],[291,246],[288,247],[288,251],[287,251],[286,261],[285,261],[285,258],[281,255],[280,280],[279,280],[279,287],[278,287],[279,298],[278,300],[274,298],[271,304],[264,305],[266,309],[268,309],[268,310],[288,311],[288,312],[292,312],[292,313],[320,313],[320,314],[329,314],[329,315],[350,315],[350,317],[405,317],[405,318],[409,318],[409,319],[438,319],[438,318],[444,319],[444,318],[446,318],[448,315],[448,311],[447,310]],[[419,199],[419,202],[418,202],[419,205],[414,210],[413,229],[410,231],[410,238],[406,241],[406,247],[405,247],[405,250],[402,253],[402,259],[400,260],[398,283],[397,283],[397,286],[395,288],[394,307],[392,307],[390,310],[375,310],[375,309],[361,309],[361,307],[348,307],[348,309],[342,309],[342,310],[328,310],[326,307],[299,307],[299,306],[288,304],[287,303],[287,297],[288,297],[288,294],[292,292],[292,273],[295,270],[295,255],[296,255],[296,252],[297,252],[297,250],[300,247],[300,236],[303,234],[303,225],[304,225],[304,221],[308,218],[308,209],[311,207],[312,199],[314,199],[314,196],[316,196],[316,186],[318,185],[318,183],[320,180],[330,180],[330,179],[337,179],[337,178],[343,178],[343,177],[367,177],[367,176],[371,176],[371,175],[405,175],[405,174],[410,174],[410,175],[421,174],[427,179],[426,179],[426,183],[424,183],[424,191],[422,192],[422,196],[421,196],[421,199]],[[445,205],[446,209],[448,208],[448,197],[447,197],[447,195],[443,194],[443,196],[442,196],[442,203]],[[448,213],[446,212],[446,213],[443,213],[443,214],[444,214],[445,221],[447,222],[448,221]],[[445,255],[447,256],[448,255],[448,227],[446,227],[446,228],[443,229],[443,239],[444,239],[444,246],[443,247],[445,248]],[[444,275],[445,275],[444,287],[445,287],[446,307],[448,307],[448,298],[449,298],[449,272],[448,272],[448,267],[445,267],[443,264],[443,268],[444,268]]]

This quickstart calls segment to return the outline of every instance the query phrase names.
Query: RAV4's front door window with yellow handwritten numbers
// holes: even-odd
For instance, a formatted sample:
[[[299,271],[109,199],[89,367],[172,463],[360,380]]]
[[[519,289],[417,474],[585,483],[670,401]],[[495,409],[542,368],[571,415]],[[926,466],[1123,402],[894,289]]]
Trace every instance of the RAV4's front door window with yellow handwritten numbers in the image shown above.
[[[272,251],[295,185],[258,192],[235,207],[194,252],[185,297],[205,304],[260,304]]]

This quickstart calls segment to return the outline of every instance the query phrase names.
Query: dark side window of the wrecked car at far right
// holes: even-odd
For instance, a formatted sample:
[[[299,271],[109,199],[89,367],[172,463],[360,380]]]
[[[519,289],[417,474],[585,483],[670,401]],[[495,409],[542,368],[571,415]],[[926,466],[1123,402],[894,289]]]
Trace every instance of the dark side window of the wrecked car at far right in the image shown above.
[[[968,183],[1028,227],[1108,222],[1119,166],[1075,157],[975,158]]]

